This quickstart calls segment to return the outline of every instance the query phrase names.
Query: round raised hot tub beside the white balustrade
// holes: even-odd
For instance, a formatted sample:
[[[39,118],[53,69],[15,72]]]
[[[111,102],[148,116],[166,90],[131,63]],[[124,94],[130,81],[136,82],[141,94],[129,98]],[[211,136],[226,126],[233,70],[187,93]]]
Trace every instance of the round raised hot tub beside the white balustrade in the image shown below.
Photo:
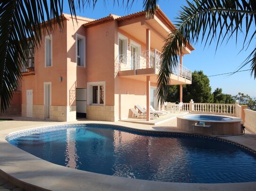
[[[204,135],[238,135],[241,119],[224,115],[177,116],[177,126],[188,132]]]

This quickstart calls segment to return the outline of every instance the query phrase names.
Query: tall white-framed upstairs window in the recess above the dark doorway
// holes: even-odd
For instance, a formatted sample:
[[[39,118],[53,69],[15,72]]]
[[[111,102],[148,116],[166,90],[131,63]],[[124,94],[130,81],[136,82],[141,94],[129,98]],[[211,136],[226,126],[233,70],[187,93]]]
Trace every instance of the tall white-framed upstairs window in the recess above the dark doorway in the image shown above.
[[[76,65],[85,67],[85,37],[80,34],[76,34],[75,38]]]

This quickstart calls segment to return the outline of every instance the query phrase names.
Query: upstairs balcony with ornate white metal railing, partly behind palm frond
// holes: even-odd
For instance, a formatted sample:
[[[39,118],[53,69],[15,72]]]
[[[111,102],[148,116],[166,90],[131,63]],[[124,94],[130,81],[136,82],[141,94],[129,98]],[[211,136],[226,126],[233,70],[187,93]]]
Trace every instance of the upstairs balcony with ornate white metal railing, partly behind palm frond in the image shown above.
[[[118,76],[140,80],[142,76],[149,75],[153,77],[153,81],[157,82],[161,54],[160,51],[154,49],[118,55],[116,58]],[[179,65],[173,69],[171,74],[172,84],[191,84],[191,76],[191,70]]]

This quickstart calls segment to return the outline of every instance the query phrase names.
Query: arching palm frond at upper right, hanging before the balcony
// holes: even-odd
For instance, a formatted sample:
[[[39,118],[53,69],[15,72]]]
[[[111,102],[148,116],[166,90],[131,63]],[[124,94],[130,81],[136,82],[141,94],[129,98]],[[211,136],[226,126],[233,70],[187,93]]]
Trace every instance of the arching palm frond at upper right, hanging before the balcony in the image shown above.
[[[187,3],[188,6],[183,6],[179,17],[176,18],[177,28],[169,34],[162,50],[162,64],[157,81],[161,103],[165,99],[170,75],[178,66],[178,55],[183,52],[187,43],[197,43],[199,37],[202,37],[205,39],[205,46],[216,40],[217,48],[223,40],[228,41],[231,37],[237,39],[238,34],[243,33],[243,49],[247,48],[256,36],[256,0],[187,0]],[[256,79],[256,47],[248,55],[243,66],[248,63],[251,63],[251,75]]]

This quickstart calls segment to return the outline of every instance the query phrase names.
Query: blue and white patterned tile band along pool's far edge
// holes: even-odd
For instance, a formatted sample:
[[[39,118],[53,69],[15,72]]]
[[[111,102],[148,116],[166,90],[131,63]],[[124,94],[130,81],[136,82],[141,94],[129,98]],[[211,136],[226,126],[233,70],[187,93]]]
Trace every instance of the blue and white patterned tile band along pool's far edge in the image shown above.
[[[55,130],[65,130],[68,128],[76,128],[76,127],[79,127],[79,128],[81,128],[81,127],[107,127],[107,128],[113,128],[113,129],[117,129],[117,130],[124,130],[124,131],[128,131],[128,132],[135,132],[135,133],[139,133],[139,134],[152,135],[152,136],[178,136],[178,137],[191,137],[191,138],[205,138],[205,139],[209,139],[209,140],[213,140],[213,141],[223,142],[224,144],[228,144],[228,145],[234,145],[234,146],[240,147],[241,149],[245,150],[248,153],[252,153],[252,154],[256,155],[256,151],[248,148],[247,146],[241,145],[236,142],[232,142],[230,140],[219,138],[219,137],[212,137],[212,136],[192,134],[192,133],[182,133],[182,132],[140,130],[140,129],[132,129],[132,128],[121,126],[121,125],[99,124],[99,123],[64,124],[64,125],[53,125],[53,126],[39,127],[39,128],[29,129],[29,130],[21,130],[21,131],[17,131],[17,132],[8,134],[5,137],[5,139],[7,141],[9,141],[14,138],[32,135],[32,134],[36,134],[36,133],[55,131]]]

